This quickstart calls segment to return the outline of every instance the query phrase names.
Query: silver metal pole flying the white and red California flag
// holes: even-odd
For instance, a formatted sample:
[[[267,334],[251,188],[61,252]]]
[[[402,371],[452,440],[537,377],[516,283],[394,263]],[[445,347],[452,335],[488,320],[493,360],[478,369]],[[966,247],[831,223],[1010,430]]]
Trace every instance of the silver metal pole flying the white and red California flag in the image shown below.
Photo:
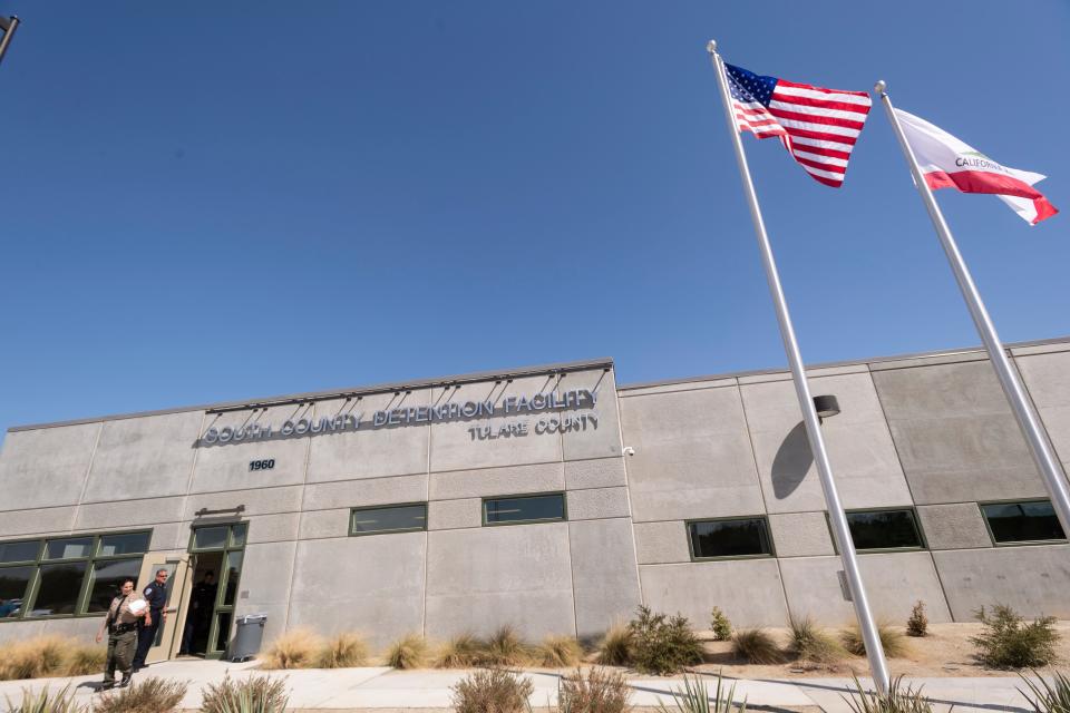
[[[903,134],[903,127],[899,126],[899,120],[895,116],[895,110],[892,107],[887,85],[883,80],[878,81],[876,86],[874,86],[874,91],[881,96],[881,101],[884,104],[884,110],[888,115],[888,121],[892,123],[895,137],[899,140],[899,148],[903,149],[906,163],[911,167],[911,174],[914,176],[914,185],[917,186],[917,192],[922,194],[922,202],[925,204],[925,209],[928,211],[928,217],[933,221],[933,227],[936,228],[936,235],[940,237],[940,244],[944,248],[944,254],[947,255],[951,271],[955,274],[959,290],[962,291],[962,297],[966,301],[966,306],[970,307],[970,316],[973,318],[973,323],[977,328],[981,341],[984,342],[984,348],[989,352],[989,359],[992,361],[993,369],[995,369],[995,375],[1000,379],[1000,385],[1003,387],[1003,393],[1006,395],[1006,400],[1011,402],[1011,409],[1014,411],[1014,418],[1018,419],[1018,426],[1022,429],[1022,434],[1025,436],[1025,440],[1029,442],[1029,450],[1033,456],[1033,462],[1037,463],[1037,469],[1040,470],[1040,475],[1044,479],[1044,486],[1051,496],[1051,504],[1056,509],[1059,522],[1062,525],[1062,531],[1070,536],[1070,490],[1068,490],[1067,487],[1066,476],[1063,476],[1062,469],[1059,467],[1059,461],[1052,452],[1048,439],[1044,438],[1040,430],[1037,411],[1033,409],[1029,399],[1025,398],[1021,381],[1014,372],[1014,369],[1011,368],[1011,362],[1006,358],[1006,350],[1003,349],[1003,343],[1000,342],[1000,338],[995,333],[995,326],[992,324],[991,318],[989,318],[989,312],[984,309],[984,303],[981,302],[981,293],[977,292],[976,285],[973,284],[973,277],[970,276],[970,271],[966,268],[966,263],[962,258],[962,253],[959,252],[955,238],[951,235],[951,228],[947,227],[947,222],[944,221],[944,214],[940,212],[940,206],[933,197],[933,192],[930,189],[928,184],[925,183],[925,176],[922,175],[922,170],[917,166],[917,158],[915,158],[914,152],[907,143],[906,136]]]

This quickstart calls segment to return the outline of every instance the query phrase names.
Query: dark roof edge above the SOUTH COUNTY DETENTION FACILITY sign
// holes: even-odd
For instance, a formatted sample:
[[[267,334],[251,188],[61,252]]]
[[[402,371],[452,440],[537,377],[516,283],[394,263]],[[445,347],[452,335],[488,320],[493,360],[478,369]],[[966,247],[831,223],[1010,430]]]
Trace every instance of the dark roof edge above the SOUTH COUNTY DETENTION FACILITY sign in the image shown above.
[[[537,367],[518,367],[516,369],[496,369],[494,371],[478,371],[467,374],[457,374],[451,377],[436,377],[432,379],[420,379],[418,381],[391,381],[378,383],[368,387],[353,387],[350,389],[331,389],[329,391],[309,391],[305,393],[292,393],[286,395],[265,397],[261,399],[242,399],[240,401],[224,401],[218,403],[206,403],[201,406],[186,406],[173,409],[158,409],[156,411],[136,411],[133,413],[118,413],[114,416],[97,416],[85,419],[74,419],[68,421],[52,421],[48,423],[29,423],[26,426],[12,426],[8,428],[8,433],[18,431],[33,431],[46,428],[57,428],[60,426],[80,426],[84,423],[99,423],[103,421],[121,421],[124,419],[137,419],[149,416],[166,416],[168,413],[186,413],[188,411],[206,411],[208,413],[223,413],[226,411],[244,411],[246,409],[264,408],[271,406],[283,406],[288,403],[311,403],[314,401],[328,401],[347,397],[366,397],[376,393],[390,393],[397,391],[411,391],[414,389],[430,389],[434,387],[453,387],[463,383],[475,383],[480,381],[516,379],[521,377],[534,377],[539,374],[568,373],[573,371],[588,371],[591,369],[613,369],[613,360],[609,356],[601,359],[585,359],[581,361],[568,361],[555,364],[541,364]]]

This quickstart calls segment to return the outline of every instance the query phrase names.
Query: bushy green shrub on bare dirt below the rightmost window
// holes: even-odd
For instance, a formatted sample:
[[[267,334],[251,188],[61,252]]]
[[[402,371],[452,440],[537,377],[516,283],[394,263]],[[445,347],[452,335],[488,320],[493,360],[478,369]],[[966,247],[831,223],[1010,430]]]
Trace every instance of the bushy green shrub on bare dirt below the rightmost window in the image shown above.
[[[1045,616],[1025,624],[1022,617],[1004,604],[984,607],[976,613],[984,631],[971,636],[970,642],[980,651],[977,660],[993,668],[1024,668],[1047,666],[1056,658],[1059,633],[1052,627],[1056,617]]]

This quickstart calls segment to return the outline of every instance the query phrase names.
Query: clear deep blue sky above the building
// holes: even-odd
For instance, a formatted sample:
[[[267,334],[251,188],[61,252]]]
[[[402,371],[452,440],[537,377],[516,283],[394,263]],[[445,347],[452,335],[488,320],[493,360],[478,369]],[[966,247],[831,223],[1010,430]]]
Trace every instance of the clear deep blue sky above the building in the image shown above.
[[[200,8],[200,9],[196,9]],[[0,1],[0,430],[613,356],[786,363],[706,41],[866,90],[1063,214],[938,194],[1005,341],[1070,334],[1070,6]],[[875,107],[746,137],[808,363],[979,342]]]

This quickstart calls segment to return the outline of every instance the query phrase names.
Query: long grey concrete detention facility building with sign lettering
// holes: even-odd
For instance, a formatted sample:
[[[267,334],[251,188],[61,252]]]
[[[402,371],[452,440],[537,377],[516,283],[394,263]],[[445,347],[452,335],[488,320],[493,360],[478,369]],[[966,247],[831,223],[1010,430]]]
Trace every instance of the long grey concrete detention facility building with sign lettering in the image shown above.
[[[1066,468],[1070,340],[1011,352]],[[1070,617],[1070,545],[983,352],[809,373],[842,406],[823,428],[878,617]],[[780,371],[619,387],[595,360],[18,427],[0,494],[0,641],[89,636],[157,567],[157,660],[184,634],[221,655],[247,613],[377,645],[594,636],[640,603],[853,616]]]

